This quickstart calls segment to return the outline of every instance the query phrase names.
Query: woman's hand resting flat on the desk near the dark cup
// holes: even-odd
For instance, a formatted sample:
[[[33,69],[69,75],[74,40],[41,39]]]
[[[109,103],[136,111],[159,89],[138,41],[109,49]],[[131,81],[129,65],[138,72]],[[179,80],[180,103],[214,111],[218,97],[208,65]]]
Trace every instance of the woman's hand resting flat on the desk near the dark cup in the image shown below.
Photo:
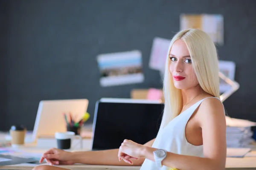
[[[71,161],[72,153],[67,152],[61,149],[52,148],[45,152],[40,159],[40,163],[46,160],[46,162],[50,165],[58,165],[58,164],[74,164],[75,162]]]

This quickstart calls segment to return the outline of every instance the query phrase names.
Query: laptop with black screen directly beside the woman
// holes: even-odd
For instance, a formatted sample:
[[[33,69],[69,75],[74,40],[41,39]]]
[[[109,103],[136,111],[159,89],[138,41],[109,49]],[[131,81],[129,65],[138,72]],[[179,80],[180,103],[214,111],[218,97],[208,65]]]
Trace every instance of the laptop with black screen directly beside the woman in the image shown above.
[[[124,139],[139,144],[157,136],[164,104],[144,99],[101,99],[96,102],[91,150],[119,148]]]

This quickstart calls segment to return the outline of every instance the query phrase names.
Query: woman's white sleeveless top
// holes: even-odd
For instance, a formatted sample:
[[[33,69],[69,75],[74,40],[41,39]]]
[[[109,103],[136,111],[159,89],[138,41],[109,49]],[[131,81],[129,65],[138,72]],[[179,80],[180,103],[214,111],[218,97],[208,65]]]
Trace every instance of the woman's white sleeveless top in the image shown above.
[[[218,99],[217,97],[213,98]],[[204,99],[196,102],[194,105],[180,113],[177,117],[172,119],[172,121],[169,122],[166,127],[160,130],[152,147],[157,149],[165,149],[168,152],[180,155],[204,157],[203,145],[192,145],[186,140],[185,136],[185,127],[189,121],[189,118]],[[157,167],[154,161],[145,159],[140,170],[171,170],[171,168],[166,166]]]

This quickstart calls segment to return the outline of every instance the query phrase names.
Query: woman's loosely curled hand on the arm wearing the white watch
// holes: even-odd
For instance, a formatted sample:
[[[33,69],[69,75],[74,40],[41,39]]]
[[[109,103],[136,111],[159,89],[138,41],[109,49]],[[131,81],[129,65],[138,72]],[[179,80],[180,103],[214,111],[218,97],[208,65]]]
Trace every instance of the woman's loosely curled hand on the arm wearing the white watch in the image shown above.
[[[119,161],[123,159],[126,163],[133,164],[131,160],[143,158],[143,149],[145,147],[142,144],[125,139],[119,147],[118,159]]]

